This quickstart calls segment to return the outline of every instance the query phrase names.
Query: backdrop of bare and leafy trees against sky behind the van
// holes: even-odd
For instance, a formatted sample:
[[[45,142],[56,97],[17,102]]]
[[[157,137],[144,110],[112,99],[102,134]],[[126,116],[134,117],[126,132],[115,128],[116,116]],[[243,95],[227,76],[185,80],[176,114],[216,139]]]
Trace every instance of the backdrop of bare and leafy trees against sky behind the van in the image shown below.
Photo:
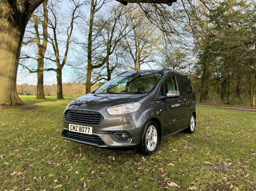
[[[190,77],[200,103],[256,106],[255,13],[252,0],[44,2],[27,25],[19,67],[36,73],[38,86],[17,92],[79,97],[123,71],[166,67]],[[43,86],[47,72],[56,85]]]

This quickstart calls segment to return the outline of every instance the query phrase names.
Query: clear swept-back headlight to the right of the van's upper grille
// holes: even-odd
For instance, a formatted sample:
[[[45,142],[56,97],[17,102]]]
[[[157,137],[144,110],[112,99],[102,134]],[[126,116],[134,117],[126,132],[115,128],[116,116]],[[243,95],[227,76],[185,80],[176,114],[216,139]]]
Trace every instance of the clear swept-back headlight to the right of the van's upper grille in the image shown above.
[[[107,108],[108,114],[110,115],[119,115],[119,114],[128,114],[135,111],[138,111],[140,108],[140,103],[125,103],[121,105],[116,105]]]

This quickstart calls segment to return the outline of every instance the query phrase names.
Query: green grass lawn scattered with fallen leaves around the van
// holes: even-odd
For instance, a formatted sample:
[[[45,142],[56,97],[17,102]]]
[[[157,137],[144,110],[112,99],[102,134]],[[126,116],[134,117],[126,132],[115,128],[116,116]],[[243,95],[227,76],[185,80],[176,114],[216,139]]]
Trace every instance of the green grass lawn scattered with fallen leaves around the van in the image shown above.
[[[20,97],[38,107],[0,108],[1,190],[256,190],[255,112],[197,107],[194,134],[172,135],[141,156],[63,140],[70,100]],[[232,170],[198,168],[209,164]]]

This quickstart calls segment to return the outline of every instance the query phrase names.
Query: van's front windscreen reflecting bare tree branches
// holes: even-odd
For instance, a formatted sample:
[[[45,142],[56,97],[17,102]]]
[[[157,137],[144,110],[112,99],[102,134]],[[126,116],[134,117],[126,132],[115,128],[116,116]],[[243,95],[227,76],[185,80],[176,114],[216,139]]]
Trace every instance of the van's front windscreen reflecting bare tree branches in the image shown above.
[[[118,76],[97,89],[95,94],[143,94],[151,91],[161,75],[158,73],[136,73]]]

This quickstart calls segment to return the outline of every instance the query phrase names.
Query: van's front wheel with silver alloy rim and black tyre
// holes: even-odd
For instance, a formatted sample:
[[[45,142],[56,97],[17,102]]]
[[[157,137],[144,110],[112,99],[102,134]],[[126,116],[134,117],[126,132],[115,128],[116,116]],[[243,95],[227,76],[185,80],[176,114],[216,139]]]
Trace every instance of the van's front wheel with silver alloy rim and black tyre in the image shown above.
[[[137,149],[137,152],[142,155],[154,154],[157,150],[158,142],[159,132],[157,123],[151,120],[144,128],[140,141],[140,147]]]

